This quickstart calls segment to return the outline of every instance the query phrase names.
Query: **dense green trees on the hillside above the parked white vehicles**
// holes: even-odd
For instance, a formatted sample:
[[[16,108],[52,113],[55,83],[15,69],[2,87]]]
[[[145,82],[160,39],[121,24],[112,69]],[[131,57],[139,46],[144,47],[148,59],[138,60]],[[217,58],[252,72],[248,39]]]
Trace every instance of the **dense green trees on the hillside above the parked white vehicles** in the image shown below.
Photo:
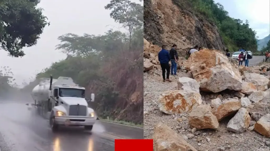
[[[194,12],[217,25],[226,47],[231,51],[245,49],[257,51],[256,32],[249,28],[248,20],[231,18],[220,3],[213,0],[191,0]]]

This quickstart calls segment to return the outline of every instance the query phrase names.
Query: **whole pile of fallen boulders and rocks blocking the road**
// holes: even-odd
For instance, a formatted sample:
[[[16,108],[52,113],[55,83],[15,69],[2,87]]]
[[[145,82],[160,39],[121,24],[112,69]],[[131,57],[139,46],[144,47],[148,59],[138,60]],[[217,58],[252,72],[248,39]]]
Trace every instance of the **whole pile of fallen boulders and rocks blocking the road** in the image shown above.
[[[227,131],[256,131],[270,138],[270,64],[238,67],[222,53],[205,49],[192,54],[183,66],[194,79],[180,77],[178,90],[160,96],[158,105],[162,112],[187,114],[193,133],[201,129],[219,130],[219,122],[229,118]],[[187,137],[194,138],[191,135]],[[154,150],[196,150],[185,140],[159,123]]]

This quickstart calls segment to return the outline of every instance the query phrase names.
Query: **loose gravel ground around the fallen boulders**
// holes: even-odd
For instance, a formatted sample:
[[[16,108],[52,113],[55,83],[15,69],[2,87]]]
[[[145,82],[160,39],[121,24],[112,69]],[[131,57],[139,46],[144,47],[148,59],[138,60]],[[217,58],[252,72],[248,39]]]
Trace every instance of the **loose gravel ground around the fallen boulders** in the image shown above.
[[[163,91],[176,90],[177,78],[187,76],[180,71],[178,76],[170,75],[173,82],[162,82],[160,69],[144,73],[144,139],[152,139],[154,126],[162,122],[183,136],[198,151],[269,151],[270,138],[254,130],[236,134],[226,129],[230,118],[220,122],[218,130],[190,129],[188,114],[167,115],[158,109],[158,98]],[[267,146],[268,145],[268,146]]]

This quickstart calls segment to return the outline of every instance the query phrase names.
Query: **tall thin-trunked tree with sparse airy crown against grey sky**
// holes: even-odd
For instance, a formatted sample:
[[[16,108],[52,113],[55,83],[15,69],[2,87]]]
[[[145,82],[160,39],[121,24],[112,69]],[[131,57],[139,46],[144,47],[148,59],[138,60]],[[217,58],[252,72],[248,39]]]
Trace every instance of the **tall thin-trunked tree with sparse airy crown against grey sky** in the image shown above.
[[[110,16],[129,30],[129,49],[131,48],[131,33],[137,26],[143,24],[143,6],[130,0],[111,0],[105,9],[112,10]]]

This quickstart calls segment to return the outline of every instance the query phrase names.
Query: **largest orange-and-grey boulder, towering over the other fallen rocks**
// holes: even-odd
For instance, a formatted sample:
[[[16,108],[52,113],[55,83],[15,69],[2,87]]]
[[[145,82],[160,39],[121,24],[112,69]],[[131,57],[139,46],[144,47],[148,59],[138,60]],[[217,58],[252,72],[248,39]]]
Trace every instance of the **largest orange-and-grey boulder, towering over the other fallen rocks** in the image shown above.
[[[242,89],[238,66],[219,51],[204,49],[193,53],[184,66],[200,84],[201,91],[216,93]]]

